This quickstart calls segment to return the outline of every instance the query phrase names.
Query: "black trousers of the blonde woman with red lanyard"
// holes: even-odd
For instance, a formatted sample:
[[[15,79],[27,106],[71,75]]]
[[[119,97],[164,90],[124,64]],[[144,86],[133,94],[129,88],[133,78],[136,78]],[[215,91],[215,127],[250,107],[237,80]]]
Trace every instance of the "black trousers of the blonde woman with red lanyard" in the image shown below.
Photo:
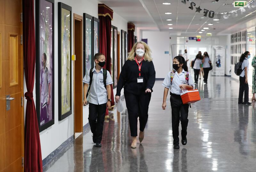
[[[144,131],[148,121],[148,105],[151,93],[134,95],[124,94],[126,107],[128,110],[131,136],[138,136],[138,117],[140,120],[140,131]]]

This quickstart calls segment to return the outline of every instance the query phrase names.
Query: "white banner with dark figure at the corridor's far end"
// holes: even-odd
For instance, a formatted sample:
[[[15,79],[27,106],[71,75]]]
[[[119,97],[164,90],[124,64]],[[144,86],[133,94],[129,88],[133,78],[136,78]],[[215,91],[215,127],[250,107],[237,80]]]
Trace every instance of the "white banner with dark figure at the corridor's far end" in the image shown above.
[[[226,49],[218,45],[213,46],[212,49],[212,75],[224,76]]]

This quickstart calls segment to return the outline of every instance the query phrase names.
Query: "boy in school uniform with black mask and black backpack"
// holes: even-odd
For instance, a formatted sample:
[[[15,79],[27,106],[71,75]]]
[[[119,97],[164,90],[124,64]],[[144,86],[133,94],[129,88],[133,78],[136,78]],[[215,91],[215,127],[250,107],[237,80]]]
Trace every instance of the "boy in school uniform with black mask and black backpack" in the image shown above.
[[[102,68],[106,63],[106,58],[103,54],[95,54],[94,63],[95,67],[87,71],[83,79],[85,83],[83,105],[85,106],[87,104],[88,96],[88,120],[93,134],[92,140],[96,143],[96,147],[101,147],[106,108],[110,108],[111,106],[110,84],[113,84],[113,81],[110,73]]]

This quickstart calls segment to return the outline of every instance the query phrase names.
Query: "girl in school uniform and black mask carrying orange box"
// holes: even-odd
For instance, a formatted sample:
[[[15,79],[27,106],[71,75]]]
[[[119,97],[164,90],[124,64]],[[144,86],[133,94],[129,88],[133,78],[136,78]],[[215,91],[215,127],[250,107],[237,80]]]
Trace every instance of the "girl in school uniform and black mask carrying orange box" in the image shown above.
[[[172,67],[164,79],[162,85],[164,88],[163,110],[166,109],[167,94],[171,92],[171,107],[172,107],[172,137],[173,148],[180,149],[179,146],[179,124],[181,122],[181,143],[187,144],[187,127],[188,127],[188,104],[183,104],[180,93],[182,90],[193,90],[195,88],[194,81],[188,72],[185,59],[182,56],[176,56],[173,59]]]

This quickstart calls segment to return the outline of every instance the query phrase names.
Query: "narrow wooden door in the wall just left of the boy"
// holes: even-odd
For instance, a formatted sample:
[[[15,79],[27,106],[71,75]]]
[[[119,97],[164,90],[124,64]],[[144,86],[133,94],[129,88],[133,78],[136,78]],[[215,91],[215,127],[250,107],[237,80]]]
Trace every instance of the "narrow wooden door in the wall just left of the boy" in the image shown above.
[[[83,132],[83,16],[74,14],[74,133]]]

